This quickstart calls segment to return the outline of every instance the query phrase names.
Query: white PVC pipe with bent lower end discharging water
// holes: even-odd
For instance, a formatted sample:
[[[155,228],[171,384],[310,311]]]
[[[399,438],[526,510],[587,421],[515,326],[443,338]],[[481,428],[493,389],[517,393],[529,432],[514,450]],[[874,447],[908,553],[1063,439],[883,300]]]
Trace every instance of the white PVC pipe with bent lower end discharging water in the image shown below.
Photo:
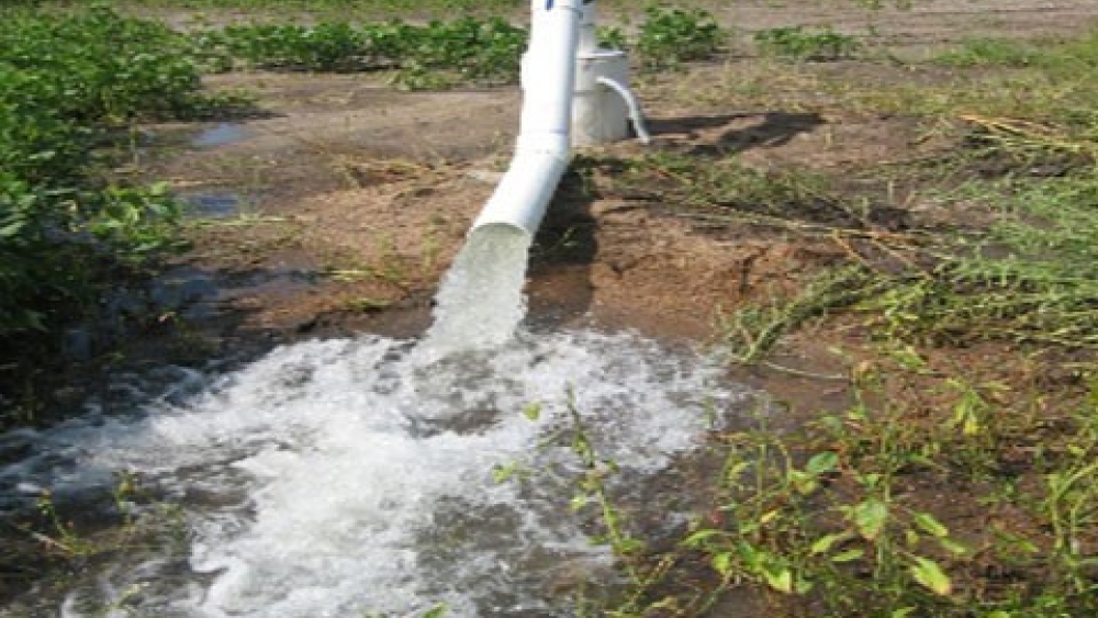
[[[531,0],[530,10],[515,156],[472,229],[505,225],[533,238],[571,159],[575,54],[580,24],[593,23],[594,1]]]

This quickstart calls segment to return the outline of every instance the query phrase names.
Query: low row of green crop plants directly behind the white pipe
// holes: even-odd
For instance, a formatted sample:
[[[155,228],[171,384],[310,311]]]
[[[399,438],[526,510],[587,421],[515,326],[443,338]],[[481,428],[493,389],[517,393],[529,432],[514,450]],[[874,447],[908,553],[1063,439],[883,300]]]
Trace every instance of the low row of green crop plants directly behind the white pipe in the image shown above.
[[[620,29],[604,29],[602,41],[635,49],[652,69],[712,58],[721,48],[725,32],[707,11],[653,8],[645,15],[635,40]],[[360,25],[257,23],[190,36],[194,53],[222,70],[236,64],[276,70],[394,69],[396,86],[426,90],[517,80],[529,33],[497,16],[463,16],[422,25],[402,20]]]

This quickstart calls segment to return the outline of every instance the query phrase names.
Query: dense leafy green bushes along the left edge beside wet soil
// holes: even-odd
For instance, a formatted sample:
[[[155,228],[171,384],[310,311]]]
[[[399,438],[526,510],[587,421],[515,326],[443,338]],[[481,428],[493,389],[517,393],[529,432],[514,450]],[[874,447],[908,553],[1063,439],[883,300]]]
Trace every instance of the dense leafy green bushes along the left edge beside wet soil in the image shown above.
[[[101,172],[138,119],[193,117],[200,92],[186,40],[93,8],[7,11],[0,22],[0,335],[57,327],[94,305],[97,281],[171,244],[164,187]]]

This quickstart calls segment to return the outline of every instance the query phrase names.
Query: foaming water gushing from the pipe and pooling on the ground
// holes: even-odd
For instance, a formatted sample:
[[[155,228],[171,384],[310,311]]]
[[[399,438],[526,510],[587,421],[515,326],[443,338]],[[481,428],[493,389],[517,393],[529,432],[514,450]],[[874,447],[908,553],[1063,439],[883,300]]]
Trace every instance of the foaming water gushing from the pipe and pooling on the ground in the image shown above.
[[[120,473],[175,505],[172,542],[90,569],[43,615],[574,615],[578,586],[615,575],[587,535],[597,523],[569,506],[570,409],[628,499],[747,395],[636,335],[516,334],[526,249],[474,234],[423,340],[363,335],[222,375],[176,370],[167,390],[135,383],[128,405],[0,437],[2,460],[21,453],[0,470],[0,510],[44,488],[58,503],[110,495]]]

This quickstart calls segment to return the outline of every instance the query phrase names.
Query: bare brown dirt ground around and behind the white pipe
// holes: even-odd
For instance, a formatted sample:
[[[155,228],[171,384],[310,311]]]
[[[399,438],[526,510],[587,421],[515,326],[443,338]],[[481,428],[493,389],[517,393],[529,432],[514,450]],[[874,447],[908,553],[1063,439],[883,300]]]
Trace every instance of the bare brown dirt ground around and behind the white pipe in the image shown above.
[[[852,2],[750,1],[717,11],[741,32],[830,24],[875,33],[889,49],[911,55],[976,35],[1064,34],[1098,19],[1098,4],[1087,0],[935,0],[878,12]],[[758,64],[733,56],[640,76],[653,144],[580,154],[708,151],[761,170],[842,177],[951,146],[928,139],[914,119],[842,110],[826,93],[798,89],[845,76],[900,83],[945,74],[879,58],[778,66],[800,81],[784,92],[785,104],[760,106],[728,87]],[[217,76],[209,86],[256,93],[259,113],[227,124],[147,128],[149,175],[168,179],[201,216],[191,226],[193,249],[166,278],[176,285],[179,313],[222,352],[256,338],[422,332],[439,278],[506,168],[517,88],[400,92],[371,76],[267,72]],[[565,179],[534,248],[527,293],[536,327],[591,324],[706,341],[724,313],[796,289],[844,256],[827,238],[704,225],[662,207],[658,195],[638,200],[583,183]],[[904,217],[927,221],[934,205],[908,200],[905,207]],[[827,347],[818,334],[802,336],[785,347],[785,361],[842,373],[844,362]],[[788,378],[761,385],[782,390],[774,380]],[[818,392],[814,384],[794,391],[802,389]]]

